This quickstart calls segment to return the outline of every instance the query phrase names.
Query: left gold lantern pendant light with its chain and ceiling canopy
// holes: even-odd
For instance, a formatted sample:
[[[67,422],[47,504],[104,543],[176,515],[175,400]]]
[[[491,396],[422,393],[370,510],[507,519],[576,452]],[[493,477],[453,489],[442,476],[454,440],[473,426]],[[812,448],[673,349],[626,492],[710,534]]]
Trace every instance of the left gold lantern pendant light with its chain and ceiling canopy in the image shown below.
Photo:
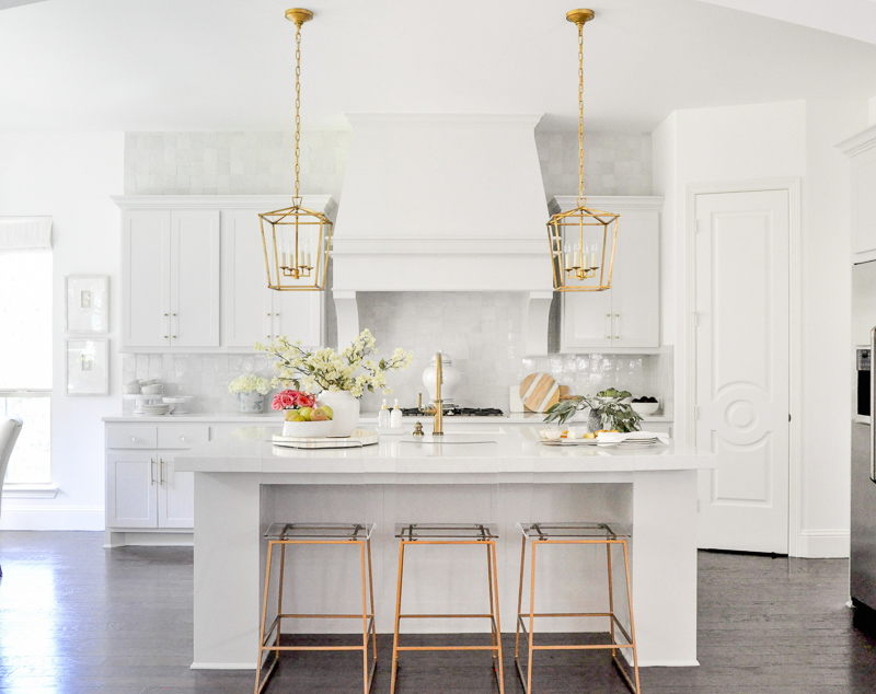
[[[301,206],[299,159],[301,155],[301,25],[313,12],[295,8],[286,11],[295,22],[295,196],[292,206],[258,215],[265,247],[267,286],[278,291],[321,291],[325,289],[332,221],[322,212]]]

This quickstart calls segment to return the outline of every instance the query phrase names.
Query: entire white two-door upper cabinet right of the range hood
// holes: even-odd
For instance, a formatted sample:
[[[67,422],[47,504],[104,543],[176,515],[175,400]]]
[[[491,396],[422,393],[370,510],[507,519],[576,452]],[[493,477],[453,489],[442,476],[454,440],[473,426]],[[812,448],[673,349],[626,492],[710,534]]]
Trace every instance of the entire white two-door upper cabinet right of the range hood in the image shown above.
[[[588,197],[588,207],[619,212],[611,289],[562,292],[561,351],[648,352],[660,346],[661,197]],[[556,197],[552,211],[574,208]]]

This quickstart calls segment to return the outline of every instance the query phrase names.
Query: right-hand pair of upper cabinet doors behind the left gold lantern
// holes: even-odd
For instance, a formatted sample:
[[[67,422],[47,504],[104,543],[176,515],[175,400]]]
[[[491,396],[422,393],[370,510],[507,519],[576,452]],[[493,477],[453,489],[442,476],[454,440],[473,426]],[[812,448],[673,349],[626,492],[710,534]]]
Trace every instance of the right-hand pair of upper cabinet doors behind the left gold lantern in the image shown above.
[[[315,347],[322,344],[321,291],[275,291],[267,288],[265,251],[258,212],[222,213],[222,319],[224,345],[252,349],[255,342],[286,336]]]

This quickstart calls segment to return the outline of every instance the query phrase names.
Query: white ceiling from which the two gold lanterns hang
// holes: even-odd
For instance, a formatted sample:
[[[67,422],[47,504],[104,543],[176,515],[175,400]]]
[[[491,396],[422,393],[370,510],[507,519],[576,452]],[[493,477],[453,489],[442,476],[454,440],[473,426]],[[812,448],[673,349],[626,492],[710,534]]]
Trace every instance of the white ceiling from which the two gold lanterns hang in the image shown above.
[[[0,12],[0,129],[291,126],[291,0],[9,7],[23,1],[0,0],[9,8]],[[569,0],[301,1],[315,14],[303,30],[306,127],[343,125],[348,112],[577,120]],[[585,27],[587,129],[647,131],[676,108],[876,94],[876,45],[841,35],[848,26],[802,25],[818,24],[817,12],[792,23],[740,11],[787,18],[788,2],[809,4],[583,0],[597,12]],[[834,2],[851,3],[861,20],[876,9],[872,0]],[[857,37],[868,32],[876,21]]]

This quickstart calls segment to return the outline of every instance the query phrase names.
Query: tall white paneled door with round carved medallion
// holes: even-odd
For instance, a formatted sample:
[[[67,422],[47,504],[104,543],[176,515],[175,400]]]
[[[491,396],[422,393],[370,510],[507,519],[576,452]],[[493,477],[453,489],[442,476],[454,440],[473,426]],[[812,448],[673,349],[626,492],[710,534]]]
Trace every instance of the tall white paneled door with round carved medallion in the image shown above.
[[[701,547],[787,553],[788,221],[786,190],[696,196]]]

